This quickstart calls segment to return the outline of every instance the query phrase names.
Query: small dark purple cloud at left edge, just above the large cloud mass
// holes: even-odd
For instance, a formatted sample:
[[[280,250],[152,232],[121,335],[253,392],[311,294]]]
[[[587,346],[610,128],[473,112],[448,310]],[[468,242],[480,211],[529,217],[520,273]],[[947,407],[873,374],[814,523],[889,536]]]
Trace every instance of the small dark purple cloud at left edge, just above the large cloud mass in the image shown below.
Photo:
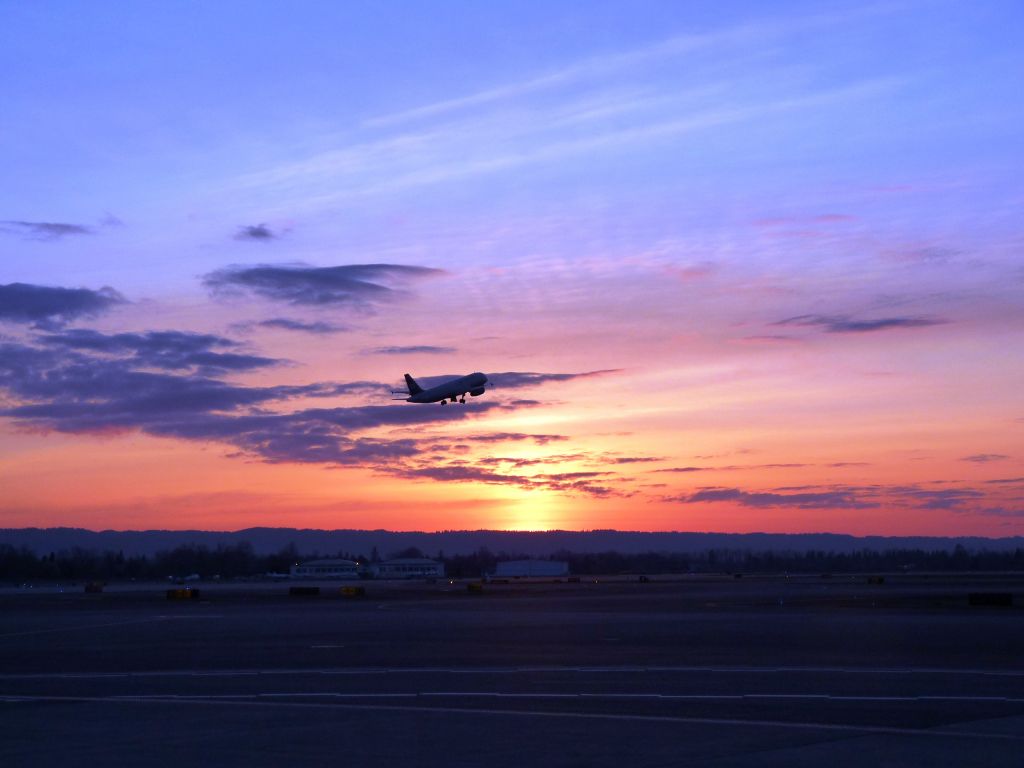
[[[0,322],[52,328],[79,317],[93,317],[125,298],[113,288],[57,288],[27,283],[0,286]]]

